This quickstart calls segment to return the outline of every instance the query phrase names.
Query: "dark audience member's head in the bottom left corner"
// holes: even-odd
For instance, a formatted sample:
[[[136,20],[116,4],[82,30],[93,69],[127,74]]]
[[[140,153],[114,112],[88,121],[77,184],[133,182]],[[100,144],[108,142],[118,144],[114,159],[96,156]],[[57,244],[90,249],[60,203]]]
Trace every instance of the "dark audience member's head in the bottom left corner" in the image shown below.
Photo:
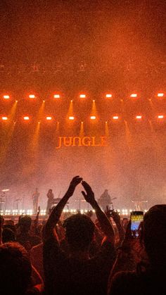
[[[0,294],[25,294],[32,267],[23,246],[17,243],[1,245],[0,265]]]

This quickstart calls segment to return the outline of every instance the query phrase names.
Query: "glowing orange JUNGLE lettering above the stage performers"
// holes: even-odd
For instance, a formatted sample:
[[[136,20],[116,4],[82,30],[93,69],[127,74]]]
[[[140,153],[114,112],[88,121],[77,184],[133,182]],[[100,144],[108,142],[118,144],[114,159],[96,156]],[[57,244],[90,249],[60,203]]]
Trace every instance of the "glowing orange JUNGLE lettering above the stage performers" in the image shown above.
[[[108,137],[58,137],[56,149],[63,146],[108,146]]]

